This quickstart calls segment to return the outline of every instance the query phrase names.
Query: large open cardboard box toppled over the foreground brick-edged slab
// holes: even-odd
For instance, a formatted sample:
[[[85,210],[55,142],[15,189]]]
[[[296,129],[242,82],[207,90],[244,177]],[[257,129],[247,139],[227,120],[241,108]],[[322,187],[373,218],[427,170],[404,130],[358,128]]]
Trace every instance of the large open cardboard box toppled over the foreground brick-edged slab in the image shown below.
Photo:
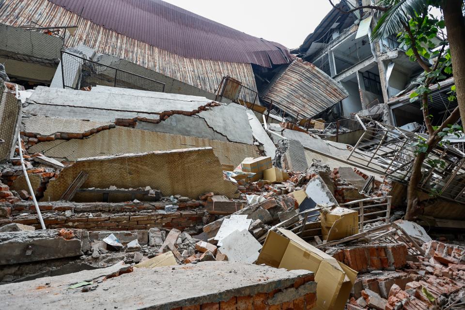
[[[288,270],[305,269],[315,273],[316,309],[343,310],[357,277],[357,272],[325,252],[278,228],[284,236],[268,233],[257,264]]]

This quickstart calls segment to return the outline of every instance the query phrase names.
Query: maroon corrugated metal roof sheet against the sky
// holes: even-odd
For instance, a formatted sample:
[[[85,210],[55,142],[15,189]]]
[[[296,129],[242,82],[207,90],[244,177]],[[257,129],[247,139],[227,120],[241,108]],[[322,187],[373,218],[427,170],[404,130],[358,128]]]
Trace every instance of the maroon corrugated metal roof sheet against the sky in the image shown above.
[[[49,0],[93,23],[184,57],[288,63],[289,50],[161,0]],[[270,62],[271,61],[271,62]]]

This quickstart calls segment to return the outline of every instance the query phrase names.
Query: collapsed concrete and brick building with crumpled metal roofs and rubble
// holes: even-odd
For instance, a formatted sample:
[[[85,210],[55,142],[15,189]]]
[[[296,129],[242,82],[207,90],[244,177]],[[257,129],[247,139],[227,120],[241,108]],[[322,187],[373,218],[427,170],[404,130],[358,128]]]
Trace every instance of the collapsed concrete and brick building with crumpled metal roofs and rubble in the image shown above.
[[[370,43],[369,10],[331,10],[296,57],[163,1],[114,5],[0,4],[2,304],[460,309],[463,142],[430,153],[403,220],[425,135],[395,109],[419,69]]]

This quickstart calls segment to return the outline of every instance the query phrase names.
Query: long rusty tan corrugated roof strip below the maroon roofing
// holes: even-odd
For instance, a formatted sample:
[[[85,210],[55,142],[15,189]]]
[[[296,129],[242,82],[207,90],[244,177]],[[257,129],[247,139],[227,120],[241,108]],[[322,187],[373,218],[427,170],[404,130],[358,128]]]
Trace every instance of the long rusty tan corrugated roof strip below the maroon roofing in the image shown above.
[[[64,26],[76,25],[79,16],[48,0],[0,0],[0,23],[21,26],[31,20],[48,27]],[[66,37],[66,46],[83,44],[98,53],[134,62],[210,93],[215,93],[224,76],[240,80],[253,90],[257,89],[250,63],[186,58],[105,29],[86,19],[81,19],[78,26],[73,37]],[[253,95],[245,99],[251,101]]]

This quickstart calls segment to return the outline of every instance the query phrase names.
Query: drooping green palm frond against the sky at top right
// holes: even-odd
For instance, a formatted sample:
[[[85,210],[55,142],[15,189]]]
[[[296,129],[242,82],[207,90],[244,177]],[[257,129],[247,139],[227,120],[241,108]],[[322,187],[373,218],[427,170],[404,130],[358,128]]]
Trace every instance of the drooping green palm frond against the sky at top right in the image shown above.
[[[384,0],[386,4],[389,0]],[[394,2],[391,0],[391,3]],[[402,31],[402,24],[408,23],[412,16],[422,13],[428,7],[428,0],[400,0],[394,3],[378,20],[372,31],[371,40],[380,40]]]

